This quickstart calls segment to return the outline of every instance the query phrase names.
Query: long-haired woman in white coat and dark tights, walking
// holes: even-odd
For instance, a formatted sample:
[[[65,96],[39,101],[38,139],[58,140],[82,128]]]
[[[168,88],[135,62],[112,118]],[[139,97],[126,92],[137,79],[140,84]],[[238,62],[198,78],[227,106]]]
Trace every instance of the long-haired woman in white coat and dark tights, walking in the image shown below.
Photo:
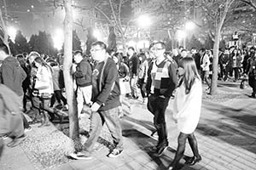
[[[197,148],[194,131],[201,115],[201,78],[197,72],[195,60],[187,57],[183,58],[178,67],[180,77],[173,103],[173,119],[177,122],[180,131],[177,142],[177,151],[169,169],[176,169],[177,164],[183,157],[186,140],[194,156],[189,158],[185,164],[189,166],[201,161],[201,156]]]

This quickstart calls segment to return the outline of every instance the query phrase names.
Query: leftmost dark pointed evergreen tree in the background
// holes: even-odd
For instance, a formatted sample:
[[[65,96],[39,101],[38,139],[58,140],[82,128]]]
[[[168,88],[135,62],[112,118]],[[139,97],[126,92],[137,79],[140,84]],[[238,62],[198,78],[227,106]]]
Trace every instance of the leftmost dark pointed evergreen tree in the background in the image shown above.
[[[15,50],[18,54],[22,54],[24,52],[28,52],[29,45],[27,43],[26,37],[24,37],[21,33],[21,31],[17,31],[16,37],[15,37]]]

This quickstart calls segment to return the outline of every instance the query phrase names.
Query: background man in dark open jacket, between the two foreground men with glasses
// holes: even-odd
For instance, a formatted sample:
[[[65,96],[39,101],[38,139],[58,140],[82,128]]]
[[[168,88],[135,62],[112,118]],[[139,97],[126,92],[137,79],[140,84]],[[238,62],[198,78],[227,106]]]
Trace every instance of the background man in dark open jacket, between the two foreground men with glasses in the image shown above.
[[[138,80],[138,70],[139,70],[139,64],[140,59],[138,59],[137,54],[135,53],[135,49],[133,47],[128,48],[128,63],[129,63],[129,69],[130,69],[130,75],[131,75],[131,96],[133,99],[138,99],[138,88],[137,88],[137,80]]]

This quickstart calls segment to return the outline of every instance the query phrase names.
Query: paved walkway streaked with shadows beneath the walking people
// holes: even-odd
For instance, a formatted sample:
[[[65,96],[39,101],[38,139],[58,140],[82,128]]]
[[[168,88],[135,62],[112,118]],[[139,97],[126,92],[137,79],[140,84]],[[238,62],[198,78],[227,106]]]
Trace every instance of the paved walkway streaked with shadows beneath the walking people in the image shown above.
[[[203,101],[201,121],[195,132],[201,152],[202,161],[193,167],[183,166],[180,169],[201,170],[253,170],[256,169],[256,99],[247,94],[250,89],[241,90],[238,84],[225,82],[219,84],[219,90],[230,93],[238,98],[218,103]],[[125,150],[117,158],[108,158],[108,148],[103,147],[93,154],[90,161],[68,161],[58,167],[35,167],[26,151],[16,147],[5,148],[0,161],[1,170],[90,170],[90,169],[166,169],[172,162],[177,148],[177,127],[171,121],[172,102],[166,111],[170,147],[163,156],[157,157],[148,152],[148,147],[157,144],[157,138],[151,137],[154,131],[153,116],[147,111],[146,105],[131,100],[134,105],[133,114],[122,118]],[[34,127],[37,128],[37,127]],[[53,127],[54,128],[54,127]],[[33,130],[32,133],[37,132]],[[185,155],[192,156],[189,145]]]

